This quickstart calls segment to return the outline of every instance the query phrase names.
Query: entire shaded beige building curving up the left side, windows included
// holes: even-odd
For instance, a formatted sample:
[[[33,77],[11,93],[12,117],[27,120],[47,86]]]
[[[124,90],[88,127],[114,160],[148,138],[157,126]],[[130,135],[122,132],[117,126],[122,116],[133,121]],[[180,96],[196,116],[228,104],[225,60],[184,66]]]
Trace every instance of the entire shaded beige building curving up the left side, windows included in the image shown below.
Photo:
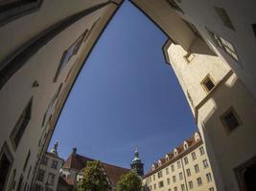
[[[0,191],[33,187],[84,60],[121,1],[0,3]]]

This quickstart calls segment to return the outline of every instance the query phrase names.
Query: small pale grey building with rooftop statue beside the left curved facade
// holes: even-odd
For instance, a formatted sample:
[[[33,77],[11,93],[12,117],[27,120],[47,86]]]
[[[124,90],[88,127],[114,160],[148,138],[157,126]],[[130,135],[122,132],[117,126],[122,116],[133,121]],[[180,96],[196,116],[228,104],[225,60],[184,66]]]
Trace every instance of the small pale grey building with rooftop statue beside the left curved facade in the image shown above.
[[[59,170],[64,160],[58,157],[58,142],[51,152],[41,159],[39,169],[35,178],[35,191],[57,191]]]

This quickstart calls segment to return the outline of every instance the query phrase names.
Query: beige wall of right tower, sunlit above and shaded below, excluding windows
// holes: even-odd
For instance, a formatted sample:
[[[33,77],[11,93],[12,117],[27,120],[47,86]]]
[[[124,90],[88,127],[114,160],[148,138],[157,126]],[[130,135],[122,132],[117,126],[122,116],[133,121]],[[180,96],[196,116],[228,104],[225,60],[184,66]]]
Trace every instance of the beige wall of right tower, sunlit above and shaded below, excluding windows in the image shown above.
[[[175,44],[167,49],[167,54],[196,117],[218,189],[239,190],[234,169],[256,156],[256,152],[251,150],[251,145],[256,143],[254,96],[217,56],[195,53],[192,61],[187,62],[184,59],[186,52]],[[207,74],[212,76],[216,84],[209,93],[200,83]],[[221,116],[230,107],[234,108],[242,124],[227,134]]]

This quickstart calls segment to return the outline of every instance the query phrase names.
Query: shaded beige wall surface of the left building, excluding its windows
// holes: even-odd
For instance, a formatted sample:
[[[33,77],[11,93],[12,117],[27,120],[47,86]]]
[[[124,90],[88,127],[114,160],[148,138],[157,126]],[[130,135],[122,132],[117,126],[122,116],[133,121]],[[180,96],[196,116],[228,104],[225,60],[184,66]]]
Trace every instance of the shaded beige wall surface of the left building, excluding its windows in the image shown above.
[[[61,2],[60,6],[58,1],[43,1],[39,11],[13,20],[11,23],[0,28],[0,41],[3,45],[0,48],[2,49],[0,51],[0,60],[10,58],[8,56],[12,54],[13,50],[19,50],[22,44],[28,42],[28,40],[38,34],[38,32],[42,32],[48,26],[55,24],[69,15],[86,10],[102,2],[103,1],[84,2],[76,0],[76,3],[74,2],[72,4],[67,1]],[[28,182],[28,184],[32,183],[36,171],[36,161],[41,157],[41,151],[46,151],[47,149],[58,115],[76,75],[80,71],[84,59],[92,49],[97,37],[103,31],[107,21],[117,8],[117,4],[109,3],[105,5],[105,7],[82,17],[64,31],[58,33],[50,42],[42,46],[21,69],[13,74],[10,80],[1,89],[0,116],[2,125],[0,127],[0,148],[2,148],[4,142],[7,142],[9,145],[13,157],[11,174],[15,169],[16,176],[14,180],[16,181],[16,186],[21,175],[27,178],[29,173],[28,169],[30,169],[30,167],[32,167],[31,175],[28,179],[24,179],[23,186],[25,182]],[[90,30],[93,23],[98,19],[100,19],[99,24],[96,25],[87,40],[81,44],[79,53],[69,60],[63,70],[61,70],[58,81],[54,82],[58,64],[64,51],[78,39],[82,32],[86,29]],[[75,65],[75,67],[72,68],[73,65]],[[71,74],[73,77],[69,77],[67,81],[65,81],[71,69],[73,71]],[[39,84],[38,87],[33,87],[35,80]],[[42,126],[42,120],[47,107],[61,83],[62,88],[60,94],[48,110],[45,124]],[[20,117],[32,96],[34,97],[32,116],[19,142],[18,148],[14,150],[10,135],[17,119]],[[51,115],[53,116],[49,121]],[[42,139],[39,143],[40,138]],[[44,138],[47,140],[46,143],[44,142]],[[23,164],[29,149],[31,150],[31,157],[26,171],[23,171]],[[8,182],[8,185],[10,184],[11,180]]]

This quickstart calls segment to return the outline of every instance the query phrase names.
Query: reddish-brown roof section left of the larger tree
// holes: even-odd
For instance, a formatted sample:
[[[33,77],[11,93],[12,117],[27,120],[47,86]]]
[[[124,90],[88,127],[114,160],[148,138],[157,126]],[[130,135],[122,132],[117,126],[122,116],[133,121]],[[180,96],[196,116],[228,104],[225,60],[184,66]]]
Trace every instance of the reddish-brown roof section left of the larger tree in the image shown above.
[[[87,164],[87,161],[93,161],[94,159],[86,158],[78,154],[71,153],[68,159],[64,162],[62,168],[81,170]]]

